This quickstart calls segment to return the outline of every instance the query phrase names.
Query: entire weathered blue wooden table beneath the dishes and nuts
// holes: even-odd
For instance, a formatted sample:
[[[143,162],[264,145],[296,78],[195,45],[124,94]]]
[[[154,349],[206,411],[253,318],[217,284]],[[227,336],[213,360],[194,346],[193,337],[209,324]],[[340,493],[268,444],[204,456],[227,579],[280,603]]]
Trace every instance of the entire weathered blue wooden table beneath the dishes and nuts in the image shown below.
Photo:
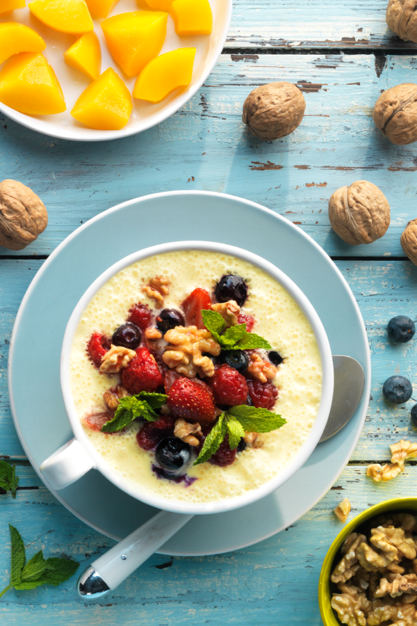
[[[400,234],[417,217],[417,144],[395,147],[373,125],[382,90],[417,83],[416,45],[385,23],[387,0],[235,0],[226,48],[202,89],[159,127],[120,141],[72,143],[36,134],[0,117],[0,179],[31,186],[49,226],[21,252],[0,248],[0,456],[17,465],[17,498],[0,495],[0,588],[10,570],[8,522],[30,552],[67,554],[84,566],[113,541],[56,501],[33,472],[10,415],[7,355],[17,308],[44,259],[100,211],[140,195],[204,189],[240,195],[277,211],[332,256],[357,298],[368,331],[373,383],[366,424],[336,485],[293,527],[253,547],[220,556],[155,555],[96,603],[62,586],[11,591],[0,600],[5,626],[320,625],[316,600],[322,559],[341,523],[343,497],[353,515],[389,497],[413,495],[415,463],[384,485],[365,476],[389,459],[389,444],[417,440],[406,405],[388,406],[382,383],[395,373],[417,385],[416,341],[393,346],[386,323],[416,319],[417,267]],[[289,137],[263,143],[241,122],[245,97],[269,81],[290,81],[306,115]],[[377,184],[391,204],[391,225],[370,246],[347,246],[332,232],[329,196],[357,179]],[[34,329],[35,332],[38,329]],[[40,390],[41,392],[41,390]],[[81,570],[79,570],[81,571]]]

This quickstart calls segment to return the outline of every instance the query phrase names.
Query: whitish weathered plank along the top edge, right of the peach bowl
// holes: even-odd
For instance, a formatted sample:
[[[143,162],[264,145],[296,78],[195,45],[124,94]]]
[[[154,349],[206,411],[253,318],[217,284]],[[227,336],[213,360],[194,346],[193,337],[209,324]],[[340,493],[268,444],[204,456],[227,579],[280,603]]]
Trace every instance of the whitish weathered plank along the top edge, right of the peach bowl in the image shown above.
[[[416,48],[386,25],[388,0],[237,0],[228,48]]]

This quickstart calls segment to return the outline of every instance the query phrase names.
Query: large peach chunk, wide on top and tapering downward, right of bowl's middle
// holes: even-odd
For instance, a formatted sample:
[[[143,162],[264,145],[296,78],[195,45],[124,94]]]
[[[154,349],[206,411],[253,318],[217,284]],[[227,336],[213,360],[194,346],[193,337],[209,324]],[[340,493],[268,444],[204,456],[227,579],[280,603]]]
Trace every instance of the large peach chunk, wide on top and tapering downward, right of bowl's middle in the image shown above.
[[[113,58],[125,74],[135,76],[158,56],[167,31],[167,13],[133,11],[101,22]]]

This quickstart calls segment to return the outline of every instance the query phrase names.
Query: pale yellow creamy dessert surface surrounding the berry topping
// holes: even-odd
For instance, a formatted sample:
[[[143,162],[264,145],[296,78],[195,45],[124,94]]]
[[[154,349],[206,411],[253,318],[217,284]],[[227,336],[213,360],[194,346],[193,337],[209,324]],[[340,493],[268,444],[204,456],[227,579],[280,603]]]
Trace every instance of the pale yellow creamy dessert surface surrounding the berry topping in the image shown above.
[[[232,465],[218,467],[202,463],[189,467],[187,474],[196,478],[190,486],[158,479],[152,471],[154,452],[140,449],[136,433],[141,424],[133,422],[128,431],[108,435],[83,424],[83,417],[97,406],[105,409],[103,393],[114,387],[117,375],[101,374],[88,358],[86,345],[92,332],[111,336],[126,320],[136,303],[151,300],[140,291],[142,284],[155,275],[168,278],[170,294],[164,307],[179,309],[196,287],[212,294],[223,275],[238,274],[248,285],[248,298],[242,312],[256,319],[254,331],[265,337],[285,358],[272,381],[279,388],[273,411],[287,424],[277,431],[264,433],[263,447],[247,447]],[[74,336],[70,358],[70,383],[74,406],[92,445],[126,483],[159,497],[206,502],[229,499],[258,488],[284,470],[306,438],[316,418],[321,398],[322,369],[313,330],[300,307],[273,278],[260,268],[236,257],[217,252],[187,250],[149,257],[120,271],[98,291],[83,313]]]

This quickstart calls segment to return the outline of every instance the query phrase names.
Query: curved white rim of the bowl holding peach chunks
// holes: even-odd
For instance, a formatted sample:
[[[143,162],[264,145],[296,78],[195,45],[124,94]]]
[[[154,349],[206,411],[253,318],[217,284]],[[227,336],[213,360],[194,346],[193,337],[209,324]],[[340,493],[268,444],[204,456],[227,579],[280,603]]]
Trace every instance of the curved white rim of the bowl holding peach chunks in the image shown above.
[[[62,125],[62,131],[56,131],[49,129],[48,120],[39,119],[38,117],[27,115],[26,113],[20,113],[20,111],[10,109],[10,106],[3,104],[3,102],[0,102],[0,111],[1,113],[4,113],[4,115],[7,115],[10,120],[13,120],[13,122],[17,122],[28,129],[41,133],[42,135],[47,135],[56,139],[68,139],[70,141],[109,141],[111,139],[120,139],[122,137],[136,135],[148,130],[149,128],[153,128],[154,126],[161,124],[161,122],[165,122],[165,120],[174,115],[174,113],[177,113],[177,111],[181,109],[181,106],[186,104],[188,100],[195,96],[199,88],[201,88],[204,84],[204,81],[206,81],[211,72],[213,72],[213,67],[218,62],[220,54],[222,54],[224,44],[226,43],[227,33],[229,32],[231,22],[233,0],[223,1],[227,3],[227,17],[222,25],[220,35],[218,35],[218,39],[213,46],[213,61],[206,68],[206,72],[202,74],[200,79],[195,83],[195,85],[193,85],[192,88],[187,88],[186,90],[180,92],[178,97],[176,97],[174,101],[166,107],[166,109],[162,109],[157,115],[155,115],[154,118],[151,117],[149,120],[138,124],[138,127],[125,126],[117,131],[101,131],[88,127],[70,127]]]

